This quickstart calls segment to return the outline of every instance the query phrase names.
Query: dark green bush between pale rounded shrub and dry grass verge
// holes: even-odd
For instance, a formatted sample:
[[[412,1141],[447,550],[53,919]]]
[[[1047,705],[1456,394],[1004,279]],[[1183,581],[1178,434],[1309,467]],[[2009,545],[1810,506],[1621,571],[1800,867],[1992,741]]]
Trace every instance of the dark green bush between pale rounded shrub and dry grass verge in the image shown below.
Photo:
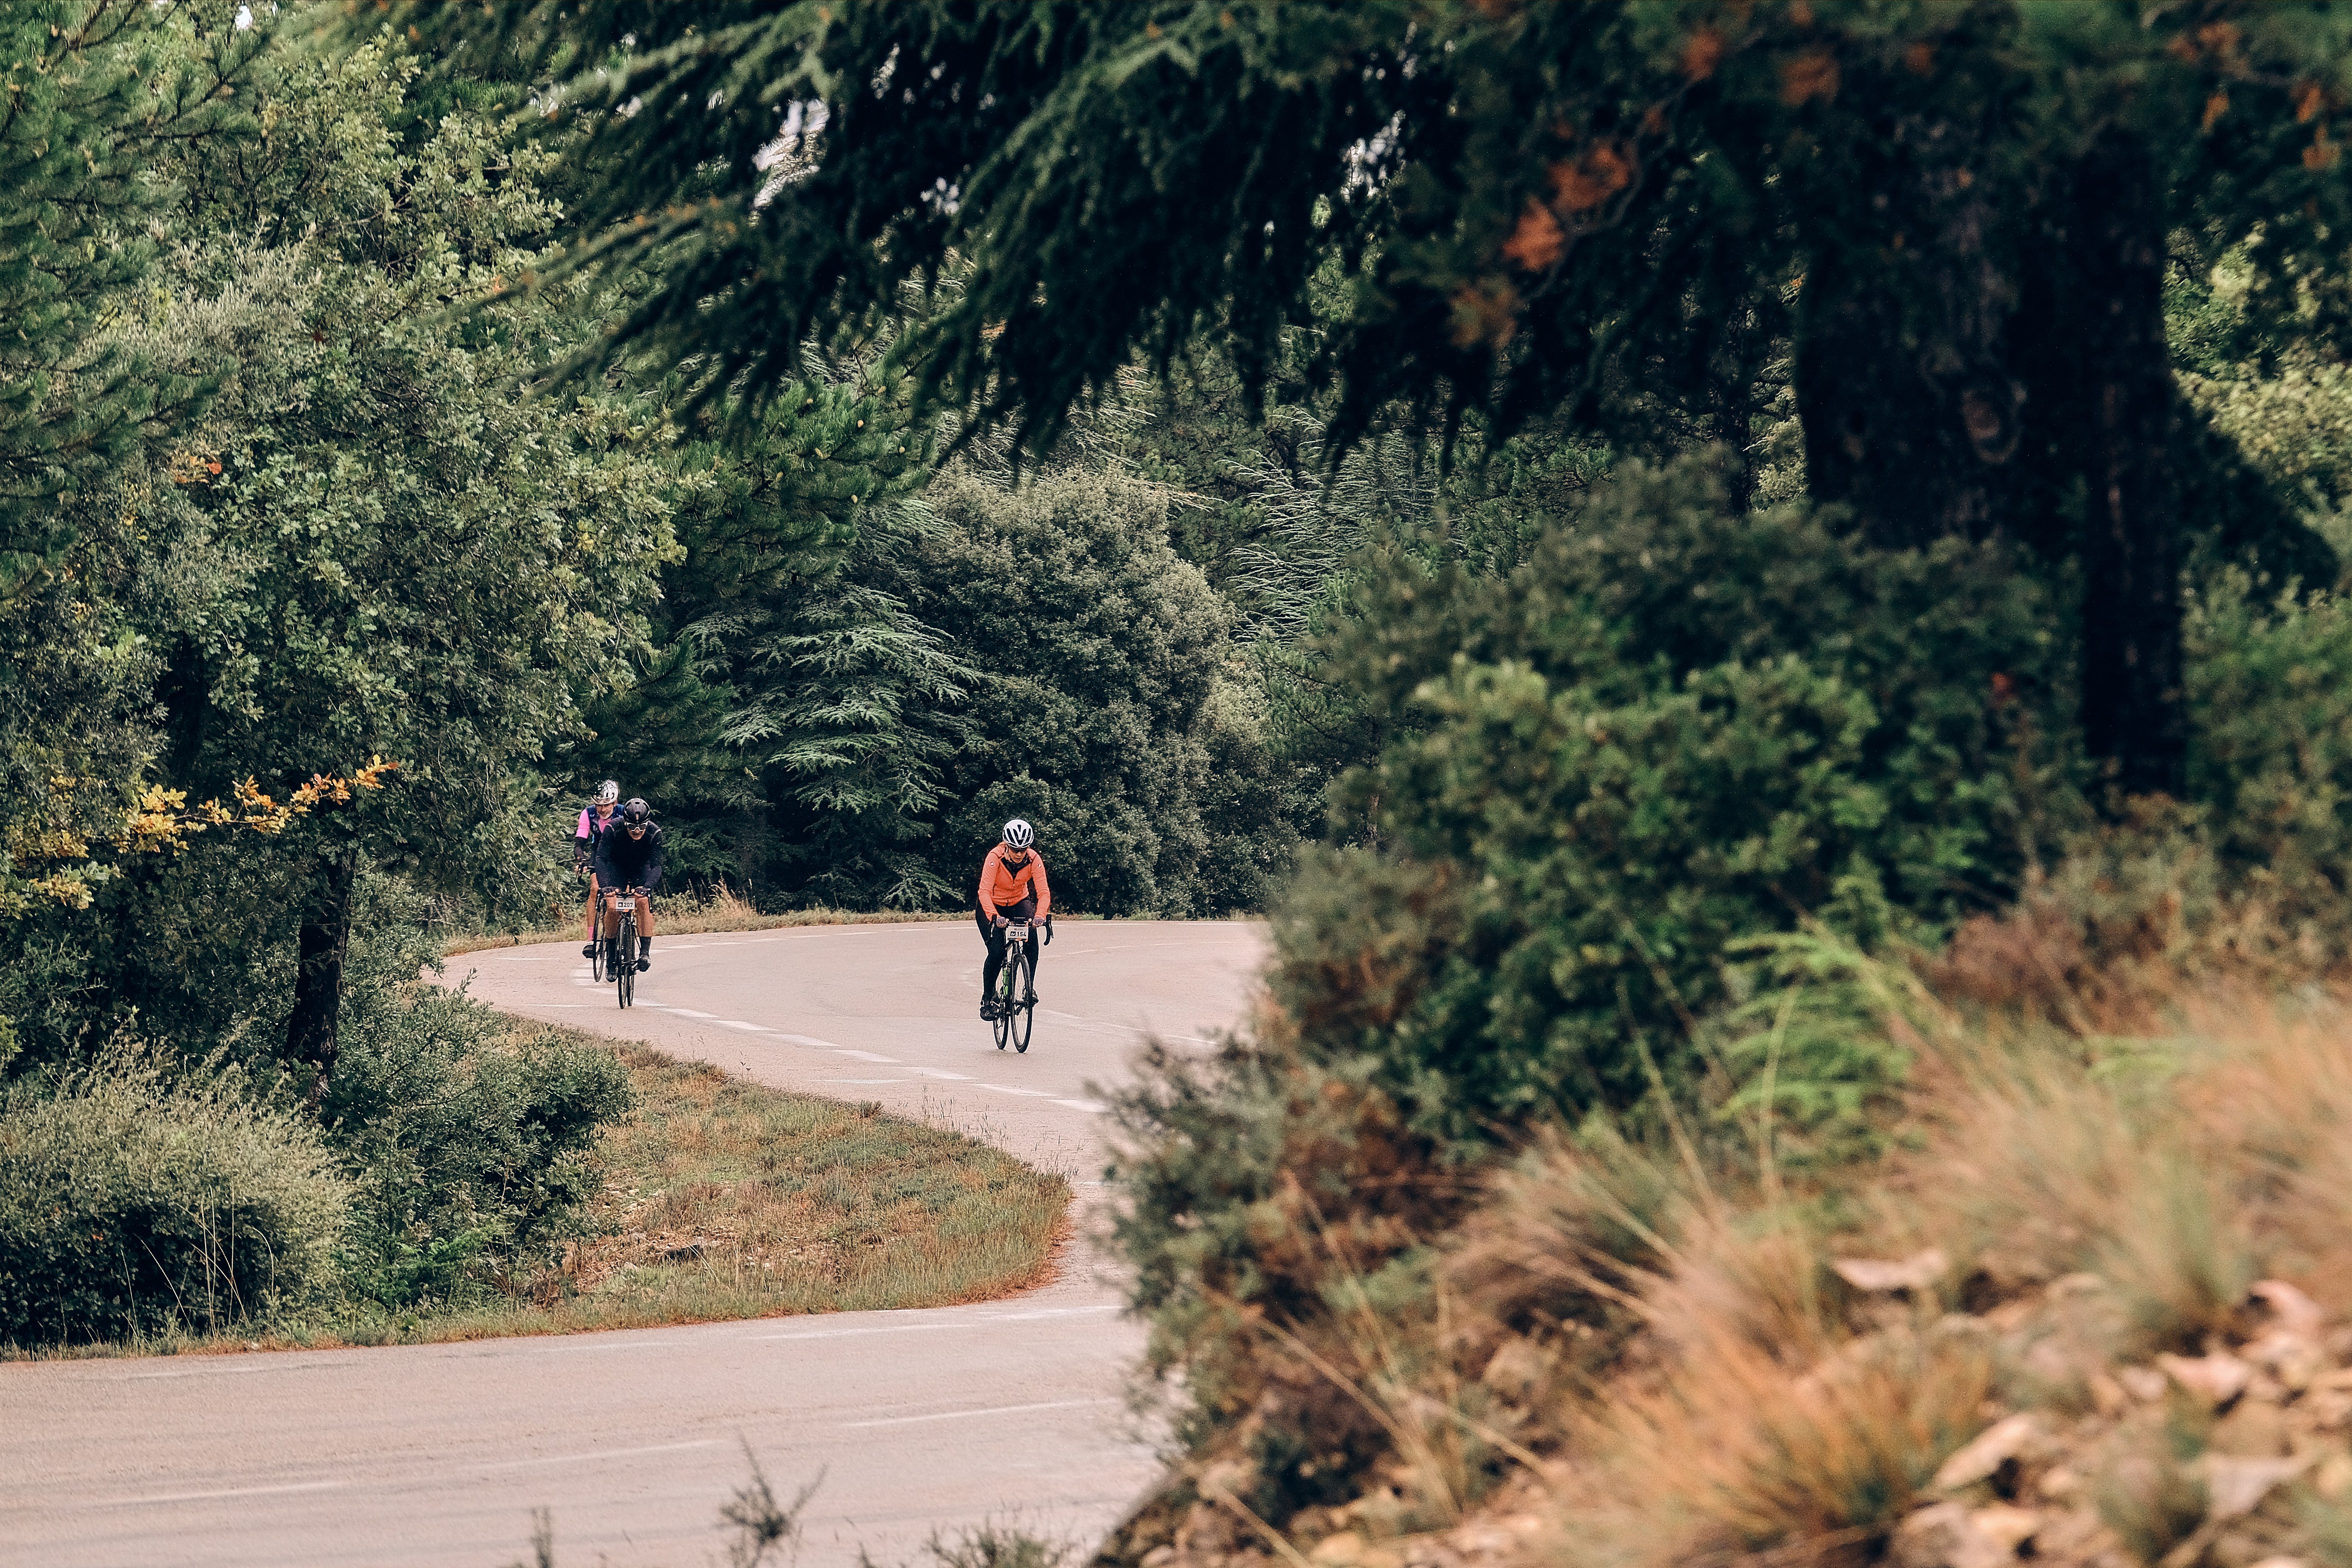
[[[602,1046],[414,980],[355,987],[322,1105],[358,1192],[350,1291],[447,1302],[543,1267],[579,1234],[597,1131],[633,1103]]]

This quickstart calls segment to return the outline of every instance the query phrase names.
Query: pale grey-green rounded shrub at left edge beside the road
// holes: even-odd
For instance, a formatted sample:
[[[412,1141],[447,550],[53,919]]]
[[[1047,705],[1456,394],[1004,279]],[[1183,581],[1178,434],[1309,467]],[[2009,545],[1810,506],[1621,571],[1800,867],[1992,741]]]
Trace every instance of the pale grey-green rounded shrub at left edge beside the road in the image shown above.
[[[348,1182],[242,1074],[113,1048],[0,1091],[0,1340],[221,1331],[334,1286]]]

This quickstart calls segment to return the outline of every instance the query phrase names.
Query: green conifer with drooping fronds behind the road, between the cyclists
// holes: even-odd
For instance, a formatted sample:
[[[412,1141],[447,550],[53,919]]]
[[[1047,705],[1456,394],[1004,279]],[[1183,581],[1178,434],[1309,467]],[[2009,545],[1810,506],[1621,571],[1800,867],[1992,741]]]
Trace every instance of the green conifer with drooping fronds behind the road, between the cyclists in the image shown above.
[[[644,780],[684,877],[849,905],[943,896],[917,842],[967,672],[908,614],[898,567],[927,458],[870,364],[677,456],[659,654],[590,712],[579,778]]]

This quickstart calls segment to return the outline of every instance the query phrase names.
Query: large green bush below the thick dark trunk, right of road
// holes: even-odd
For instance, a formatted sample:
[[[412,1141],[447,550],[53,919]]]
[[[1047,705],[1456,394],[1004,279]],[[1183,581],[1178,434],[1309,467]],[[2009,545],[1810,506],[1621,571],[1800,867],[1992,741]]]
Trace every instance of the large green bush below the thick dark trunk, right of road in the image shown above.
[[[2053,614],[1999,548],[1832,522],[1637,468],[1508,578],[1390,581],[1338,637],[1414,712],[1341,795],[1383,853],[1275,922],[1317,1048],[1475,1145],[1698,1074],[1736,938],[1931,938],[2018,884],[2074,799]]]

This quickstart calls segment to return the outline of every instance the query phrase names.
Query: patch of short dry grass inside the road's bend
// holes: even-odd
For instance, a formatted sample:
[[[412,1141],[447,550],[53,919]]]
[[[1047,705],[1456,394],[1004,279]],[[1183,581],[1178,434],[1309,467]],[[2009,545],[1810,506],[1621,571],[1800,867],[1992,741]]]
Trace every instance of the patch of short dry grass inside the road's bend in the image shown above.
[[[1070,1204],[1061,1175],[870,1100],[786,1093],[647,1046],[576,1039],[621,1056],[637,1107],[597,1145],[590,1234],[546,1272],[440,1307],[355,1307],[35,1354],[430,1345],[948,1307],[1011,1295],[1054,1267]]]

